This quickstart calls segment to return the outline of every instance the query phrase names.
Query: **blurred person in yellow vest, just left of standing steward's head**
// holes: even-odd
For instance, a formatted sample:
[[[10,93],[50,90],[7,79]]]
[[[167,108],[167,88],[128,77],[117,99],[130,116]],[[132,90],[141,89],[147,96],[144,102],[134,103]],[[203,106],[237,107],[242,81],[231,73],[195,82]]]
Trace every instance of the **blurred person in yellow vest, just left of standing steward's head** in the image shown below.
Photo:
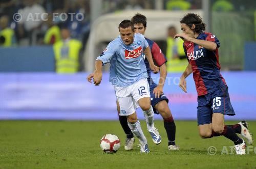
[[[52,15],[48,15],[48,20],[46,22],[48,30],[45,33],[44,43],[47,45],[54,44],[60,40],[59,26],[54,24]]]

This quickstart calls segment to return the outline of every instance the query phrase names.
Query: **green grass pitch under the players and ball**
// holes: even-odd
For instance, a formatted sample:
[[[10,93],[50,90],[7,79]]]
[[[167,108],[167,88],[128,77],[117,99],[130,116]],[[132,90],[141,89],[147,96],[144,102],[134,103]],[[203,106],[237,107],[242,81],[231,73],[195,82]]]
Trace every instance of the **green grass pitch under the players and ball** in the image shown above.
[[[139,147],[124,150],[125,134],[118,121],[0,121],[0,168],[256,168],[255,143],[250,154],[226,154],[233,145],[227,138],[202,139],[196,121],[176,121],[181,150],[168,151],[163,122],[155,122],[162,135],[160,145],[153,143],[144,120],[140,122],[149,154],[141,154]],[[233,123],[237,122],[226,122]],[[256,133],[256,122],[248,123]],[[121,140],[115,154],[100,149],[100,138],[107,133]],[[217,148],[216,155],[207,153],[210,146]],[[228,152],[221,154],[224,146]]]

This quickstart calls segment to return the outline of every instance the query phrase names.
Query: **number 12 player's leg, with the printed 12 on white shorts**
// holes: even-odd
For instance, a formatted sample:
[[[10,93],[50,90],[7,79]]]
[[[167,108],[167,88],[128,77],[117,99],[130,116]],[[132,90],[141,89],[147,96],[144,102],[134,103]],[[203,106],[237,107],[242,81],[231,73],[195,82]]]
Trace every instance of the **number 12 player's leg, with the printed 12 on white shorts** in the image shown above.
[[[144,78],[139,80],[131,88],[135,104],[138,103],[143,110],[147,130],[150,132],[153,142],[155,144],[160,144],[162,139],[154,125],[154,111],[151,106],[150,87],[148,86],[147,79]]]

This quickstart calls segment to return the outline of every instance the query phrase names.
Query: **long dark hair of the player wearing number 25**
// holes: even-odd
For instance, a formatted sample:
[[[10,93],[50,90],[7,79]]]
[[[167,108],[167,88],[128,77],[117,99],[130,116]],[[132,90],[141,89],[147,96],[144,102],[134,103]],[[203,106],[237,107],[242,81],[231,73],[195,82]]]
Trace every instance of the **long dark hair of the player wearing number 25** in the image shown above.
[[[188,13],[186,16],[184,16],[180,23],[185,23],[188,25],[188,27],[191,29],[192,25],[195,24],[195,33],[201,33],[202,31],[205,31],[206,24],[202,21],[201,16],[194,14],[194,13]]]

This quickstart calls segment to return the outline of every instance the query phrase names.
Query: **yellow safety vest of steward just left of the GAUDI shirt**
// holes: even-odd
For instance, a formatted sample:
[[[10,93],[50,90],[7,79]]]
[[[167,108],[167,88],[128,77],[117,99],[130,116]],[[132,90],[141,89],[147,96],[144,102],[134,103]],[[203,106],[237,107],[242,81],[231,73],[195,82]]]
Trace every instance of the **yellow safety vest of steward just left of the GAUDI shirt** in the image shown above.
[[[177,52],[178,55],[185,55],[184,49],[183,49],[183,40],[177,39],[175,41],[173,38],[168,37],[167,38],[167,48],[166,48],[166,58],[168,60],[167,62],[167,72],[183,72],[187,67],[187,59],[179,59],[179,58],[173,58],[173,47],[174,45],[177,45]]]

